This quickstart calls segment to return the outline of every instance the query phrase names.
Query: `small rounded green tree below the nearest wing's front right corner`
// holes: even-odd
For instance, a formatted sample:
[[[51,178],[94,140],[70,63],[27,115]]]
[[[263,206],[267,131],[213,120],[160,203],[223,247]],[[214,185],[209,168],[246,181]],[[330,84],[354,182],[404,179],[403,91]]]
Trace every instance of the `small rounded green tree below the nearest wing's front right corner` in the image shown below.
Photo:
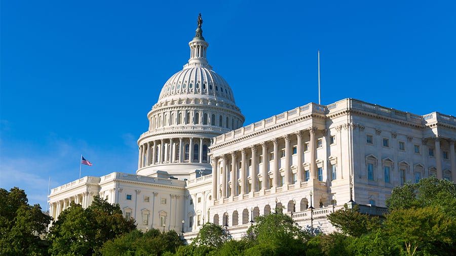
[[[361,214],[357,204],[353,208],[348,208],[345,204],[343,209],[336,210],[328,215],[328,220],[344,234],[353,237],[360,237],[381,226],[378,217]]]

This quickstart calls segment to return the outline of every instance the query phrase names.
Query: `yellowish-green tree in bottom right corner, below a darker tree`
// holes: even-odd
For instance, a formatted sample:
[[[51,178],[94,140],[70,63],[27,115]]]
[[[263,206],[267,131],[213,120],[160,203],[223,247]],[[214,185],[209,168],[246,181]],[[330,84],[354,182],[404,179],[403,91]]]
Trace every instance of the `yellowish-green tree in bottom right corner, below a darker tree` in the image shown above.
[[[407,255],[456,254],[456,219],[438,207],[393,210],[387,216],[385,232]]]

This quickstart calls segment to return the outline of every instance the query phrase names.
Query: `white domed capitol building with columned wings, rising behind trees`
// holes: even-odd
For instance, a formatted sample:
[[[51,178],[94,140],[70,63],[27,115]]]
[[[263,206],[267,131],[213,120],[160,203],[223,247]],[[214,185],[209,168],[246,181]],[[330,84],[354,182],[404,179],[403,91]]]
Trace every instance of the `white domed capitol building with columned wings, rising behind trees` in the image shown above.
[[[281,210],[301,227],[355,202],[386,212],[394,187],[435,175],[456,181],[456,118],[416,115],[355,99],[309,103],[244,125],[235,92],[207,61],[199,19],[190,58],[164,84],[138,139],[136,174],[86,176],[53,188],[50,216],[99,195],[138,229],[190,241],[206,222],[234,238]],[[52,225],[52,224],[51,224]]]

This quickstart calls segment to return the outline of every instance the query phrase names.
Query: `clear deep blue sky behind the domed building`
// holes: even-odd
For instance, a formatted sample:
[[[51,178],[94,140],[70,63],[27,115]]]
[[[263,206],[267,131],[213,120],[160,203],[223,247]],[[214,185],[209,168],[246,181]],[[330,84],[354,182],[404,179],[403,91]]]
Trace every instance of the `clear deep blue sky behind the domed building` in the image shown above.
[[[456,115],[454,1],[3,1],[0,187],[45,208],[49,177],[77,179],[81,154],[83,175],[134,173],[199,12],[245,124],[318,101],[318,49],[322,104]]]

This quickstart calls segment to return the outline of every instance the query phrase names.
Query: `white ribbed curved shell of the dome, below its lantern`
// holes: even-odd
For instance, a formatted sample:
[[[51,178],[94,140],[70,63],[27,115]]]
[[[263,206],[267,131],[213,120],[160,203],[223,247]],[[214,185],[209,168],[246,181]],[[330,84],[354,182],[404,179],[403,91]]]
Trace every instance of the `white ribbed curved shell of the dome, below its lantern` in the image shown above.
[[[225,79],[203,66],[186,65],[171,76],[163,86],[159,101],[185,95],[192,95],[192,98],[198,95],[212,96],[216,100],[235,103],[233,92]]]

